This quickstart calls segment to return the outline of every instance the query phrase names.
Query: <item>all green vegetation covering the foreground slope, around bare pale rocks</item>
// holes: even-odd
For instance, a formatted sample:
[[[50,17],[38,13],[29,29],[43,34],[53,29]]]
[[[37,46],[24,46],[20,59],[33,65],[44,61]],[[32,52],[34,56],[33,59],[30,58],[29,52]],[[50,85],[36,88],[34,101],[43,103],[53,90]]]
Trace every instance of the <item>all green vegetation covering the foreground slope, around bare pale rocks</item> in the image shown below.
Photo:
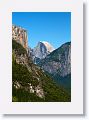
[[[15,60],[15,52],[18,55],[27,54],[26,50],[16,41],[12,41],[12,101],[13,102],[70,102],[71,96],[65,91],[63,87],[57,86],[53,79],[47,74],[39,69],[36,65],[30,62],[29,68],[27,69],[25,65],[17,64]],[[38,81],[39,78],[39,81]],[[16,89],[14,86],[15,82],[19,82],[22,88]],[[37,86],[41,84],[45,99],[38,97],[35,93],[30,93],[26,88],[28,83],[32,86]]]

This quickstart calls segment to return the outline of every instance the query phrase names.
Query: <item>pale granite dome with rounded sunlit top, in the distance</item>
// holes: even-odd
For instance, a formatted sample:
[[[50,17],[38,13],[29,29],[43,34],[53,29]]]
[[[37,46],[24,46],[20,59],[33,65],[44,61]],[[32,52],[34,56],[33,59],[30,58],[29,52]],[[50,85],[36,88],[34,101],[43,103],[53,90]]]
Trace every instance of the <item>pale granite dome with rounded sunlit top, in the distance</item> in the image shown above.
[[[50,54],[54,48],[48,42],[39,42],[38,45],[31,51],[31,56],[34,63],[38,63],[41,59]]]

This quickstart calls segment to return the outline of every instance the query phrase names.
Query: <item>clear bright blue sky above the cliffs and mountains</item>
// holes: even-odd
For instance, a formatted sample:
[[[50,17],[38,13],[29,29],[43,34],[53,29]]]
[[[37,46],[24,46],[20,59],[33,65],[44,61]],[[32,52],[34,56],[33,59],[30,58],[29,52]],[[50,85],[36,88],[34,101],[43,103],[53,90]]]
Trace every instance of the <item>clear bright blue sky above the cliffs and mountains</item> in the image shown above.
[[[71,41],[70,12],[13,12],[12,24],[27,30],[31,48],[39,41],[47,41],[55,49]]]

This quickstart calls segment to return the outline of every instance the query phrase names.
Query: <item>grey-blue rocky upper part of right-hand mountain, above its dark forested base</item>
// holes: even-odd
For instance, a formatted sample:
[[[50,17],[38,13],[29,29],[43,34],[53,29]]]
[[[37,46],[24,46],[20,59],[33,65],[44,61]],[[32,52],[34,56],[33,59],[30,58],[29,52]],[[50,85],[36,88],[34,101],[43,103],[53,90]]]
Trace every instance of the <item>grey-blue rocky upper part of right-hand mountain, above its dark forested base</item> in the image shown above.
[[[71,73],[71,43],[65,43],[60,48],[41,60],[39,65],[50,74],[60,74],[64,77]]]

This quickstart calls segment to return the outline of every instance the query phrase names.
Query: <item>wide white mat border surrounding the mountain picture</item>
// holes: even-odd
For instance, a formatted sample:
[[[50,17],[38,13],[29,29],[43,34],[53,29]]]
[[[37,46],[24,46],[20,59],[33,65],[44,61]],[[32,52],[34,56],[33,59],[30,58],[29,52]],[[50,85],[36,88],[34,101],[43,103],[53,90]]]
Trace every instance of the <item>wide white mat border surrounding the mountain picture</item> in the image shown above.
[[[71,12],[71,102],[12,102],[12,12]],[[1,113],[83,114],[82,0],[3,0],[0,33]]]

